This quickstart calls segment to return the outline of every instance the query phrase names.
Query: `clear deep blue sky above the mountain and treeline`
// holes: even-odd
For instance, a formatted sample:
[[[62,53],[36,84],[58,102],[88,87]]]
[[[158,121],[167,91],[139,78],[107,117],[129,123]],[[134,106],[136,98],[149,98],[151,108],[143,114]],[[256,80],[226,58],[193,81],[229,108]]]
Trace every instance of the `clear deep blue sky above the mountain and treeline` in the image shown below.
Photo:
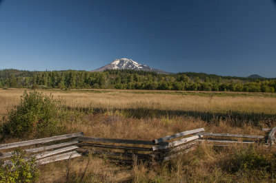
[[[276,77],[275,1],[0,3],[0,69],[92,70],[131,58],[167,72]]]

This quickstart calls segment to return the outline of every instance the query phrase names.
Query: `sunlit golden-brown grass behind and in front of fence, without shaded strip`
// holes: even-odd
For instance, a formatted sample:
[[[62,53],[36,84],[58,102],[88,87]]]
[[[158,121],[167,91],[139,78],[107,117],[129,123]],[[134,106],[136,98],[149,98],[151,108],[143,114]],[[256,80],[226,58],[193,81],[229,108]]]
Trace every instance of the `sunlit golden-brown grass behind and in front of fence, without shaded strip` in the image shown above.
[[[24,89],[0,89],[1,116],[5,116],[8,109],[19,103],[23,91]],[[54,89],[41,92],[52,93],[55,98],[65,100],[66,105],[72,109],[68,110],[68,120],[64,124],[68,133],[83,131],[86,136],[101,138],[152,140],[201,127],[208,132],[264,135],[260,127],[255,127],[250,123],[235,127],[227,120],[219,119],[214,125],[191,116],[128,118],[124,111],[117,109],[145,108],[213,113],[225,113],[231,110],[248,114],[252,111],[259,114],[276,114],[276,98],[262,96],[262,94],[210,97],[201,96],[196,92],[195,95],[181,95],[173,92],[141,94],[124,90],[83,92]],[[112,110],[105,110],[98,114],[80,110],[88,107]],[[14,141],[18,139],[6,140],[6,142]],[[203,145],[193,153],[180,156],[172,162],[155,165],[126,166],[89,155],[70,160],[70,162],[62,161],[41,166],[39,182],[66,182],[67,175],[69,175],[68,182],[250,182],[252,180],[248,177],[231,175],[221,168],[223,160],[228,157],[229,153],[242,148],[244,147],[217,150]],[[219,164],[220,162],[222,165]]]

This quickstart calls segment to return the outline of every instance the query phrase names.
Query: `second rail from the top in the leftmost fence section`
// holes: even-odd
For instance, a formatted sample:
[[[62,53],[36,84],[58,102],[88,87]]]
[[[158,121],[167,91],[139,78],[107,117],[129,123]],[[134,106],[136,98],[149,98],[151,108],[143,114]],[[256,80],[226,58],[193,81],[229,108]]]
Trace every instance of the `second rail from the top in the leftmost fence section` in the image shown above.
[[[46,146],[46,147],[37,147],[37,148],[34,148],[34,149],[26,149],[25,151],[27,153],[36,153],[36,152],[39,152],[39,151],[47,151],[47,150],[50,150],[50,149],[65,147],[65,146],[69,146],[69,145],[72,145],[72,144],[77,144],[78,142],[79,141],[64,142],[64,143],[54,144],[54,145],[50,145],[50,146]],[[12,156],[12,154],[13,154],[13,152],[3,153],[3,155],[0,156],[0,159],[9,158],[9,157]]]

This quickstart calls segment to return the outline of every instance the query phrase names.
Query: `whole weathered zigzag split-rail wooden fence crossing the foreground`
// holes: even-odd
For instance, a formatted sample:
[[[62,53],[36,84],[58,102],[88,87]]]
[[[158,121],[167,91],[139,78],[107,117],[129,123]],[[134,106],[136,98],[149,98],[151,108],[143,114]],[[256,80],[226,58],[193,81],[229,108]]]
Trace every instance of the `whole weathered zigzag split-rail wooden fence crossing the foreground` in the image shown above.
[[[266,131],[267,134],[264,136],[253,136],[207,133],[204,132],[204,128],[201,128],[183,131],[151,141],[84,137],[83,133],[72,133],[51,138],[0,144],[0,151],[27,147],[26,152],[30,153],[30,157],[37,158],[39,164],[76,158],[81,156],[81,154],[87,155],[88,153],[124,163],[132,163],[134,161],[161,162],[175,158],[181,153],[192,151],[201,142],[220,147],[229,146],[233,143],[273,145],[275,143],[276,127],[263,129],[263,131]],[[61,142],[65,140],[67,142]],[[4,160],[4,164],[10,164],[11,162],[8,158],[11,156],[12,151],[0,153],[0,160]]]

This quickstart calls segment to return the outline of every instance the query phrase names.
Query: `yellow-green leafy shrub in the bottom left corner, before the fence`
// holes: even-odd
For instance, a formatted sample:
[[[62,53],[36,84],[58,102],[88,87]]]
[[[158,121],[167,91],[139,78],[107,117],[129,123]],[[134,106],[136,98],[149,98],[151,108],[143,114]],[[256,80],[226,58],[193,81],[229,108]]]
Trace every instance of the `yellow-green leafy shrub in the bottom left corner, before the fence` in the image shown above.
[[[0,182],[35,182],[39,170],[34,158],[26,159],[26,151],[14,151],[12,164],[0,164]]]

